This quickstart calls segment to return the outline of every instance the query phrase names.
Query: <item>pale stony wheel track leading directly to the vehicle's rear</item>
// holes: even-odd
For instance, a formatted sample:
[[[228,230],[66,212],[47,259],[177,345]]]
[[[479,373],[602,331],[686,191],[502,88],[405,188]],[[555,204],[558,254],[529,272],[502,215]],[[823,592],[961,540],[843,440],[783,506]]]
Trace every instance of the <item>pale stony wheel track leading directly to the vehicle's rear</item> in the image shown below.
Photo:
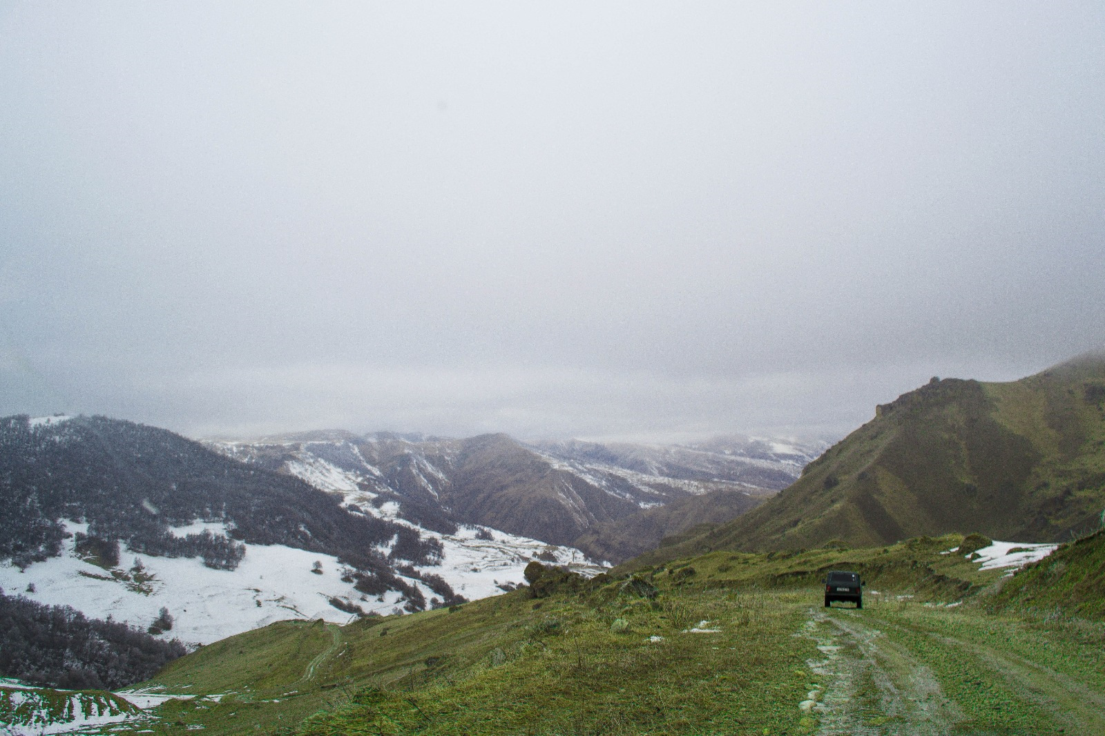
[[[946,736],[964,719],[932,670],[877,629],[815,609],[806,629],[825,655],[807,663],[823,692],[802,704],[819,716],[819,736]]]

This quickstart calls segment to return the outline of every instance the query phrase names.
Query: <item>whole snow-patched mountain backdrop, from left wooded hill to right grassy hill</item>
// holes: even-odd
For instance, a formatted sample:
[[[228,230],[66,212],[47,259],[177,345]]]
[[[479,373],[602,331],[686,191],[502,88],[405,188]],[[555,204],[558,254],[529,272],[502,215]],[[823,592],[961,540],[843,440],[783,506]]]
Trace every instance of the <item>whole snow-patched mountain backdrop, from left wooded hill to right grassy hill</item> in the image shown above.
[[[339,431],[204,446],[103,417],[9,417],[0,588],[189,642],[450,606],[513,588],[533,559],[597,572],[558,544],[581,529],[588,554],[620,559],[727,521],[797,476],[802,452]]]

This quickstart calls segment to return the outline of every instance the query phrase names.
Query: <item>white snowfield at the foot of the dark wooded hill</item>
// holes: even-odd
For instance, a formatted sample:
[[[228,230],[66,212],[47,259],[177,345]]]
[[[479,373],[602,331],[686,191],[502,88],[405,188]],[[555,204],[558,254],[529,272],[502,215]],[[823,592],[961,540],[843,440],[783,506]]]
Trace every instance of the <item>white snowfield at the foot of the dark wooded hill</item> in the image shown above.
[[[284,619],[345,623],[360,614],[410,609],[408,593],[358,589],[355,570],[333,555],[246,544],[245,555],[233,570],[212,569],[198,558],[133,554],[105,569],[102,560],[76,548],[75,533],[86,530],[87,525],[67,522],[66,526],[74,536],[60,556],[24,569],[0,565],[0,588],[8,595],[70,606],[90,618],[110,617],[140,629],[154,623],[164,608],[172,617],[172,628],[161,635],[193,644]],[[175,529],[189,530],[194,529]],[[476,599],[523,583],[523,570],[533,559],[589,575],[602,569],[576,549],[485,528],[462,527],[456,534],[436,538],[442,544],[440,564],[400,566],[398,570],[398,577],[418,589],[430,604],[443,602],[430,576],[448,581],[457,595]]]

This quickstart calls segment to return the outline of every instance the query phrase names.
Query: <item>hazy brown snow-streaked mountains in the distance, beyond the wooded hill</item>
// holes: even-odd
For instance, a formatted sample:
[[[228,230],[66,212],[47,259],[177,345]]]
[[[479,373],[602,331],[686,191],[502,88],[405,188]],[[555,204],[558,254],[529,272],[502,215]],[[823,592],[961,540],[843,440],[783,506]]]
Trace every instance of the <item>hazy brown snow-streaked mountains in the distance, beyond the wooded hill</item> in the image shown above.
[[[617,561],[687,526],[748,511],[792,483],[828,443],[526,444],[505,434],[332,431],[208,446],[343,494],[347,505],[397,504],[400,518],[424,528],[483,525]]]

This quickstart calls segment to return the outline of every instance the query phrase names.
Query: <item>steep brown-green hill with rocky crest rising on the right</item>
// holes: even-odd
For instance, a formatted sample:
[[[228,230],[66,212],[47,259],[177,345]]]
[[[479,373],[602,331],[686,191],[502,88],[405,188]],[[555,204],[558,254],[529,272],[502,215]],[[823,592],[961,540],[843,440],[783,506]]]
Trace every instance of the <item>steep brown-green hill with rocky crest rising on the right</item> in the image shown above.
[[[946,379],[880,407],[793,485],[649,557],[882,545],[977,530],[1050,542],[1105,507],[1105,358],[1011,383]]]

